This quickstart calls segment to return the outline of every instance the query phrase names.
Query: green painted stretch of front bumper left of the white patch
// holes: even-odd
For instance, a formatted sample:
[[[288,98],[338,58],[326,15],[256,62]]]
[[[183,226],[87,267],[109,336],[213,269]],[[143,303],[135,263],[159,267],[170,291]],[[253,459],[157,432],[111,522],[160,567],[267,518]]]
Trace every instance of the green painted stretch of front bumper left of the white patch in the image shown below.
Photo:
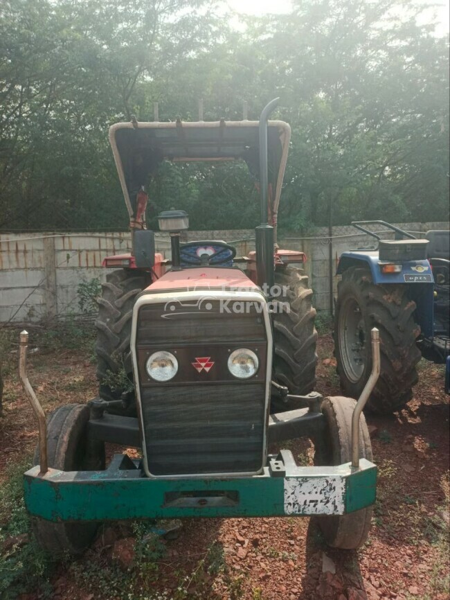
[[[120,520],[140,518],[265,516],[283,513],[283,479],[178,479],[147,478],[64,481],[52,471],[50,477],[26,473],[25,500],[28,511],[47,520]],[[31,476],[30,476],[31,475]],[[83,476],[87,475],[83,473]],[[269,483],[269,484],[268,484]],[[167,506],[165,494],[237,491],[235,506]]]

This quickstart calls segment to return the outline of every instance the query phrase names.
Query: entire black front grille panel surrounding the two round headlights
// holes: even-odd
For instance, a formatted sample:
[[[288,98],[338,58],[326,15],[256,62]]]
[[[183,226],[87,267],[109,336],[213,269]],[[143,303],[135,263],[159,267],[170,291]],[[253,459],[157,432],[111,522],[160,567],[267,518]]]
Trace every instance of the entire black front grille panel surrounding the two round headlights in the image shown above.
[[[262,300],[264,301],[264,300]],[[169,318],[167,317],[169,315]],[[260,368],[251,380],[228,371],[229,353],[253,348]],[[179,371],[164,384],[145,371],[148,356],[166,350]],[[197,371],[197,357],[211,357],[210,371]],[[143,443],[147,472],[156,477],[259,473],[267,421],[267,333],[254,307],[244,314],[142,303],[136,323]]]

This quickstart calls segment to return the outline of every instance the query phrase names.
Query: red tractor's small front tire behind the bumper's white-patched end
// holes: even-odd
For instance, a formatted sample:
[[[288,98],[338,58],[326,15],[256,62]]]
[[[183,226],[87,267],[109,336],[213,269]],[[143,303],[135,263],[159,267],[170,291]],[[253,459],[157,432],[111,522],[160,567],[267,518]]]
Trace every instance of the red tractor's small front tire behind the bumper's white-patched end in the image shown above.
[[[314,464],[337,466],[352,460],[352,414],[356,400],[343,396],[325,398],[322,412],[327,423],[327,433],[316,443]],[[361,414],[359,421],[359,458],[372,461],[372,445]],[[343,550],[354,550],[366,543],[372,520],[372,506],[347,515],[316,517],[327,545]]]

